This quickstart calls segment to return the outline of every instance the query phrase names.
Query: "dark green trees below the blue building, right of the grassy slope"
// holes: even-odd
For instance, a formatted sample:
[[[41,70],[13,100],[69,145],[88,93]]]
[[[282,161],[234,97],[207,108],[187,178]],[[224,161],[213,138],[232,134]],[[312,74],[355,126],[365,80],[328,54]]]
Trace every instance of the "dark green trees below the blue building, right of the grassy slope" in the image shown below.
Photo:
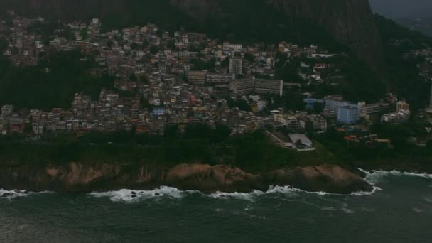
[[[409,143],[408,139],[419,131],[411,121],[404,125],[377,124],[371,127],[372,134],[379,138],[389,139],[391,145],[355,143],[345,141],[345,134],[330,129],[325,134],[313,134],[313,138],[323,144],[324,149],[337,158],[338,163],[347,166],[367,166],[369,168],[396,168],[406,170],[432,170],[431,143],[428,146],[417,146]],[[426,132],[425,132],[426,134]],[[312,135],[312,134],[311,134]],[[368,134],[359,134],[365,136]]]

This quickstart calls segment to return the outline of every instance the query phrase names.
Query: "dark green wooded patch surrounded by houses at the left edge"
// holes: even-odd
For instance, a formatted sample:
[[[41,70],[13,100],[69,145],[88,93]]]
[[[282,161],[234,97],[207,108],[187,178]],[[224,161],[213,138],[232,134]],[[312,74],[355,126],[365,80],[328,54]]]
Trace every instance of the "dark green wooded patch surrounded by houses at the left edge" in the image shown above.
[[[91,58],[79,51],[55,53],[43,58],[35,67],[13,67],[0,58],[0,104],[18,108],[68,108],[77,92],[99,97],[102,87],[113,87],[109,75],[92,76]]]

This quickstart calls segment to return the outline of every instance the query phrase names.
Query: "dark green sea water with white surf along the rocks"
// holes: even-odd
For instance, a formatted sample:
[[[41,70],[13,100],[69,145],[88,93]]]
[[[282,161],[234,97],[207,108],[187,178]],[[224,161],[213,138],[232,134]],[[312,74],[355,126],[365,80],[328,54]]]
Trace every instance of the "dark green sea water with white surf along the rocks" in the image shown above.
[[[373,194],[15,193],[0,199],[0,242],[432,242],[431,175],[367,180]]]

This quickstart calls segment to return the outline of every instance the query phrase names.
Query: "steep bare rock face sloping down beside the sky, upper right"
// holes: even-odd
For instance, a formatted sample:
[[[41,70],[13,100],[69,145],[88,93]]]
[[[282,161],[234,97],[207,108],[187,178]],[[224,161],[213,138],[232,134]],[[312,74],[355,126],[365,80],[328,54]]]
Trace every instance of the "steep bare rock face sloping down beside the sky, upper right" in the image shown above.
[[[368,0],[269,0],[287,15],[306,16],[336,40],[355,50],[362,60],[383,71],[382,41]]]

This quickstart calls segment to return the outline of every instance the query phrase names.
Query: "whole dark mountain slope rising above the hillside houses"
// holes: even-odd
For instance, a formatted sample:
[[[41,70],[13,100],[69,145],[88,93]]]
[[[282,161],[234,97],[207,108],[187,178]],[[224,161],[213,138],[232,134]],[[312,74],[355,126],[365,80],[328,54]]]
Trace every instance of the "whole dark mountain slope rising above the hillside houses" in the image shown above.
[[[268,41],[291,38],[320,44],[315,39],[330,43],[333,38],[374,70],[385,70],[368,0],[4,0],[0,8],[45,18],[99,17],[113,27],[151,21],[163,28],[188,26],[192,31]]]

